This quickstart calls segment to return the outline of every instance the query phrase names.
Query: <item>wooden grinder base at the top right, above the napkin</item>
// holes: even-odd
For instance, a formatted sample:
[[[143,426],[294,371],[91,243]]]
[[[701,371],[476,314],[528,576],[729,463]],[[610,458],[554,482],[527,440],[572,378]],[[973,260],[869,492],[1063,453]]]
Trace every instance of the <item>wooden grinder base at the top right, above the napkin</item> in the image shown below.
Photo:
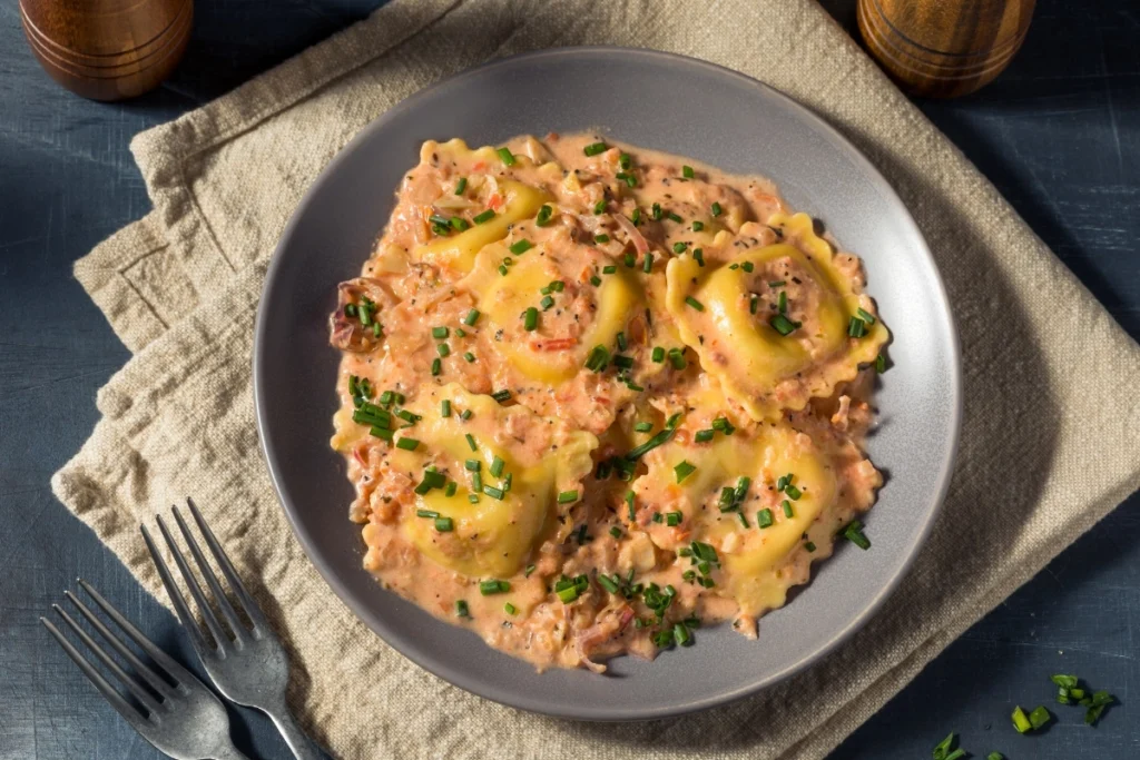
[[[954,98],[988,84],[1029,30],[1035,0],[858,0],[871,55],[911,95]]]

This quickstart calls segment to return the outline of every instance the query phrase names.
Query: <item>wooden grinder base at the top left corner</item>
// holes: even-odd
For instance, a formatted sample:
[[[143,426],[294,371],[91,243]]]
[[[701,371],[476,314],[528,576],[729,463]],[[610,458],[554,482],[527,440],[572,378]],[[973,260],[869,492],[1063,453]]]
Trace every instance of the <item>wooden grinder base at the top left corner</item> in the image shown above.
[[[19,0],[40,65],[68,90],[122,100],[154,89],[190,39],[193,0]]]

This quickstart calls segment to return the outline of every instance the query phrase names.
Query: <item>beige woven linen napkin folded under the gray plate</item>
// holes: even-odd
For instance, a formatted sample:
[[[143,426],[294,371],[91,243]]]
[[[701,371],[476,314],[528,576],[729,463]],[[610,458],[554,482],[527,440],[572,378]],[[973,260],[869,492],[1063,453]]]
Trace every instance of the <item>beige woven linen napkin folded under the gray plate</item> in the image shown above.
[[[526,714],[390,649],[293,539],[253,422],[266,262],[320,169],[361,126],[442,76],[584,43],[730,66],[842,130],[922,228],[964,353],[966,418],[946,508],[881,612],[808,671],[667,725]],[[291,701],[337,755],[823,757],[1140,485],[1140,350],[809,0],[397,0],[132,148],[155,210],[75,273],[136,356],[100,391],[104,417],[55,492],[163,602],[137,525],[194,495],[243,574],[259,579],[296,665]]]

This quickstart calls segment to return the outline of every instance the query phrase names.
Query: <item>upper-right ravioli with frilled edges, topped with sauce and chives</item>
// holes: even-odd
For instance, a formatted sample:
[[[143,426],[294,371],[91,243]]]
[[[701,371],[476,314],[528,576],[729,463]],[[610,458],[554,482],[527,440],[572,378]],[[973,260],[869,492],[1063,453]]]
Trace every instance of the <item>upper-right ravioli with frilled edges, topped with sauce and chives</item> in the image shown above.
[[[796,245],[746,250],[709,265],[679,256],[667,273],[667,308],[682,338],[758,420],[831,395],[888,337],[807,214],[777,214],[769,223]]]

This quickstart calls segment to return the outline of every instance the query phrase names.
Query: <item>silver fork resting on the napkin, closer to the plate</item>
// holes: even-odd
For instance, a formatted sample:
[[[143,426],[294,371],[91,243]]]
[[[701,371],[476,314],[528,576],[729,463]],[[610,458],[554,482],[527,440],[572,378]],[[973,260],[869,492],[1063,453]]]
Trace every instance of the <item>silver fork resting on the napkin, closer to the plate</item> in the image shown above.
[[[170,547],[170,551],[174,557],[174,564],[178,565],[182,580],[186,581],[186,587],[190,590],[190,596],[194,597],[194,602],[202,613],[213,643],[211,644],[206,639],[205,632],[195,621],[194,615],[186,604],[186,598],[179,591],[174,579],[170,574],[170,570],[166,567],[166,563],[150,539],[150,533],[145,525],[141,525],[142,538],[146,540],[147,549],[150,550],[150,557],[158,570],[158,575],[162,577],[162,583],[166,587],[166,594],[170,595],[170,600],[174,604],[178,619],[189,632],[194,651],[198,653],[202,664],[213,680],[214,686],[218,687],[218,690],[238,704],[244,704],[247,708],[256,708],[269,716],[277,726],[277,730],[285,737],[285,743],[288,744],[290,750],[293,751],[298,760],[321,760],[321,754],[293,720],[293,716],[285,704],[285,686],[288,684],[288,659],[285,655],[285,647],[282,646],[277,635],[269,627],[268,621],[261,614],[261,610],[253,600],[253,597],[245,590],[245,586],[242,585],[241,579],[237,577],[237,572],[234,570],[229,557],[226,556],[226,551],[210,531],[197,507],[194,506],[194,501],[187,499],[186,504],[190,509],[194,522],[198,526],[198,531],[202,533],[202,538],[205,539],[206,546],[210,547],[210,553],[213,554],[218,566],[221,567],[221,573],[226,577],[234,597],[252,623],[247,628],[238,619],[237,612],[235,612],[229,599],[226,597],[218,577],[214,575],[209,563],[206,563],[206,558],[198,548],[197,541],[194,540],[194,536],[190,533],[186,521],[182,520],[181,513],[178,510],[178,507],[173,507],[174,521],[178,523],[178,528],[190,549],[190,554],[194,556],[198,571],[205,579],[206,586],[210,587],[211,596],[230,630],[230,635],[227,635],[222,630],[221,622],[206,602],[202,587],[198,586],[194,573],[190,572],[186,558],[179,550],[170,531],[166,530],[166,524],[158,516],[156,517],[158,530],[166,540],[166,546]]]

